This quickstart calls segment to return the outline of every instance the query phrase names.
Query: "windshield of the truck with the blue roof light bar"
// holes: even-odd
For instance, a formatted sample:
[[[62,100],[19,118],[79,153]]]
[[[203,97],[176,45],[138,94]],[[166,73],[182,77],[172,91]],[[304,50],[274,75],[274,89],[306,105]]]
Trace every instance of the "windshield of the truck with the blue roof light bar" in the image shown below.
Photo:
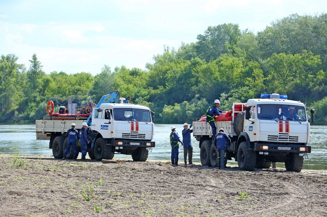
[[[305,108],[292,105],[257,105],[259,119],[306,121]]]

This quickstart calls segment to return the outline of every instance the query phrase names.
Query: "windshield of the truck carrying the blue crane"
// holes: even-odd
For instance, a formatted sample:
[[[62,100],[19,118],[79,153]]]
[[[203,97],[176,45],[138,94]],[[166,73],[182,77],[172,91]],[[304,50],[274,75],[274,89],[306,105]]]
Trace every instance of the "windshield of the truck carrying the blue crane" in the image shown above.
[[[114,108],[113,118],[115,121],[151,122],[150,111],[145,109]]]

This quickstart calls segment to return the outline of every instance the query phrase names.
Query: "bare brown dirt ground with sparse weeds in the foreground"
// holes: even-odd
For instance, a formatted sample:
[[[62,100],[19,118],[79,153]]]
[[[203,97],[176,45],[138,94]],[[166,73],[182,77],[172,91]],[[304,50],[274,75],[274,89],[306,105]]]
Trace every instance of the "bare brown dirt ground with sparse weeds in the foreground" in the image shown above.
[[[6,217],[327,216],[327,171],[12,155],[0,155],[0,164]]]

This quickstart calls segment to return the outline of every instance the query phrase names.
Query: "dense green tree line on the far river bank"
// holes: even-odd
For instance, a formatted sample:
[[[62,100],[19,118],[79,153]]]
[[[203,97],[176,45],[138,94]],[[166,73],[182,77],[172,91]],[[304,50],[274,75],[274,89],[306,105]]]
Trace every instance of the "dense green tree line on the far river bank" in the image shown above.
[[[254,34],[238,24],[209,26],[197,41],[178,50],[164,46],[146,70],[104,65],[92,76],[80,72],[46,74],[34,54],[30,66],[14,54],[0,59],[0,122],[42,118],[45,97],[87,98],[119,91],[156,114],[156,123],[192,122],[215,99],[220,109],[261,93],[287,94],[316,108],[316,124],[327,121],[327,14],[298,15],[271,22]]]

